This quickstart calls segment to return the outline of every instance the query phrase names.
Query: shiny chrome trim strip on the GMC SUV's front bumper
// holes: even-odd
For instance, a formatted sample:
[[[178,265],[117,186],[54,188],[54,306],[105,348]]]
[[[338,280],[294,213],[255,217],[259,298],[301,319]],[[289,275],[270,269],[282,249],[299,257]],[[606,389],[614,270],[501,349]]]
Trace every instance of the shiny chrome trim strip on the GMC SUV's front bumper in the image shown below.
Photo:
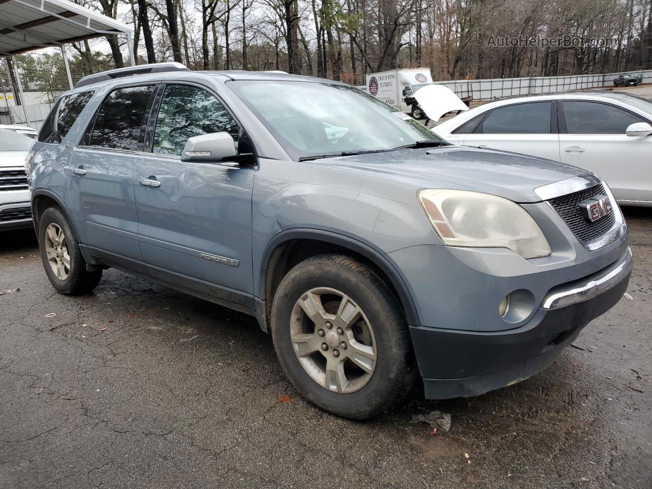
[[[632,250],[628,246],[625,258],[617,265],[612,265],[610,271],[597,278],[587,280],[584,283],[578,281],[579,283],[572,288],[549,292],[544,297],[541,307],[544,309],[556,309],[558,307],[587,301],[619,284],[631,271]]]

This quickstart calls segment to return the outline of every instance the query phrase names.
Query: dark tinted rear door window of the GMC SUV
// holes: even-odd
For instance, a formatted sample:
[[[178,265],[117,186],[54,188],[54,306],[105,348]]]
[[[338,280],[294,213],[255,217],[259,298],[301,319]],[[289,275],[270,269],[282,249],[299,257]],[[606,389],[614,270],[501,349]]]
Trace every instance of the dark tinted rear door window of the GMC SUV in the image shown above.
[[[97,112],[90,145],[141,151],[140,130],[153,91],[154,85],[112,91]]]

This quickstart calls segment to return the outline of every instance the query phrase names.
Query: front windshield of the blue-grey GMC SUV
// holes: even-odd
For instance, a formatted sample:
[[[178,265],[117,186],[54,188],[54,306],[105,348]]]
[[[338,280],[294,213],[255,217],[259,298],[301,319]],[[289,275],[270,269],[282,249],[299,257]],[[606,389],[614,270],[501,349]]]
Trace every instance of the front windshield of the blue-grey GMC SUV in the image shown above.
[[[293,159],[442,141],[408,115],[338,83],[229,82]]]

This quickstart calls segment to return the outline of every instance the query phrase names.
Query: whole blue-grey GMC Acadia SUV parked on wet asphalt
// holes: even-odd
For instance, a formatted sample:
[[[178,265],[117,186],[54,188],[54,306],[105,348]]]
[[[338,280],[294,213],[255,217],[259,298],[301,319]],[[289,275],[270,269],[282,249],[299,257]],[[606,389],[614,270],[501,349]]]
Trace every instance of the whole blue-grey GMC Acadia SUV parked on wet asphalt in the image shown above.
[[[26,171],[55,289],[87,293],[115,267],[250,314],[303,396],[351,419],[417,376],[443,399],[541,372],[632,269],[599,177],[451,145],[319,78],[88,76]]]

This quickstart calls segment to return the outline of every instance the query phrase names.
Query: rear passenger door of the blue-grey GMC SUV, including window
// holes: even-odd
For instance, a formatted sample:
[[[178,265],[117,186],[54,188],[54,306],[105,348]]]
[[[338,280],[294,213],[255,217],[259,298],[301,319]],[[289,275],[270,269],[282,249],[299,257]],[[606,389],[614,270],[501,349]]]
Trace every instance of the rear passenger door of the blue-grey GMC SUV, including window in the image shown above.
[[[141,260],[134,175],[143,153],[143,123],[155,86],[111,91],[72,153],[70,192],[85,243]]]

